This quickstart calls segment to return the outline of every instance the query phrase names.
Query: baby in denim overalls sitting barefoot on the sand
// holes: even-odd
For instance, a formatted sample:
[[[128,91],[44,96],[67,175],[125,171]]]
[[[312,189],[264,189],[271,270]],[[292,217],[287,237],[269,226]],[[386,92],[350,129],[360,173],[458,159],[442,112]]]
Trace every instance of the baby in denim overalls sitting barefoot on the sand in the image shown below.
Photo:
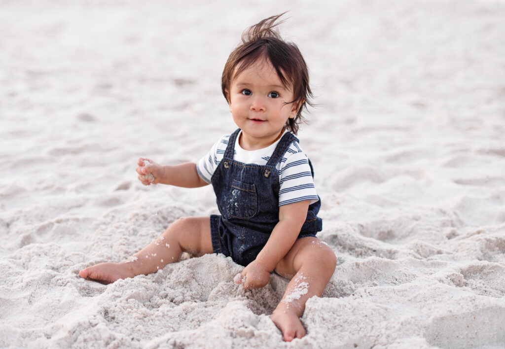
[[[144,185],[212,184],[221,215],[181,218],[135,256],[85,268],[81,277],[114,282],[154,273],[182,252],[221,253],[244,266],[234,281],[245,289],[265,286],[272,272],[291,279],[270,319],[286,341],[306,334],[299,318],[307,300],[323,293],[336,258],[316,237],[321,201],[294,136],[312,96],[308,69],[298,47],[277,32],[280,16],[244,31],[226,62],[222,91],[238,129],[197,164],[137,162]]]

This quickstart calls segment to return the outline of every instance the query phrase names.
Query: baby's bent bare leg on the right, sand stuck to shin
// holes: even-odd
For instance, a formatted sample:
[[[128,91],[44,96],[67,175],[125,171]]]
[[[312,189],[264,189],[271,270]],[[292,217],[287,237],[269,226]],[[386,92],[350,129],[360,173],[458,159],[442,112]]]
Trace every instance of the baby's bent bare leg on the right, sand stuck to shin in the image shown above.
[[[275,271],[291,281],[281,302],[270,319],[281,330],[284,340],[305,336],[300,322],[305,303],[316,295],[321,296],[335,271],[336,257],[328,245],[315,237],[296,240]]]

